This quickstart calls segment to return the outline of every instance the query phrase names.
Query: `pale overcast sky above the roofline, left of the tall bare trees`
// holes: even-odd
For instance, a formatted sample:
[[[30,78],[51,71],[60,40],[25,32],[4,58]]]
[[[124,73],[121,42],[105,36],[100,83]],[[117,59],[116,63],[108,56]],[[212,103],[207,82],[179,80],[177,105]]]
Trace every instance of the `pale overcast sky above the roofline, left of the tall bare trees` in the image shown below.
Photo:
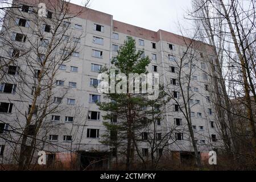
[[[81,5],[81,0],[71,0]],[[90,9],[113,15],[113,19],[135,26],[179,34],[177,22],[184,27],[184,13],[191,0],[90,0]]]

